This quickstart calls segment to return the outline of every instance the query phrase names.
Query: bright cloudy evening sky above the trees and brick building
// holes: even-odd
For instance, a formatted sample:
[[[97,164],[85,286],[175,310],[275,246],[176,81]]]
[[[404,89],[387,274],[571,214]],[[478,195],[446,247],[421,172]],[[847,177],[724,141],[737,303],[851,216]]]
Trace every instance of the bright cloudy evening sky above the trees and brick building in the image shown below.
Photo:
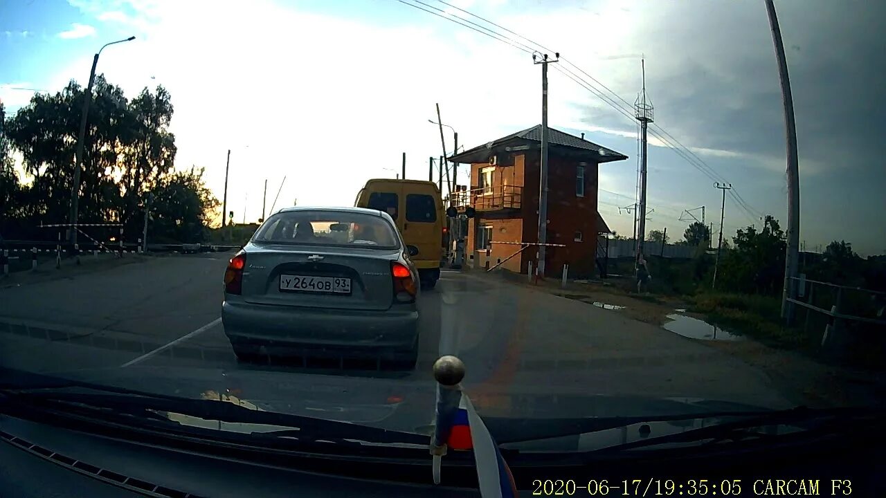
[[[651,130],[696,163],[649,137],[647,230],[679,238],[684,210],[701,218],[705,206],[716,231],[714,181],[731,183],[749,206],[727,195],[725,237],[759,228],[762,214],[786,225],[781,87],[763,2],[447,2],[560,52],[549,71],[549,126],[629,157],[599,169],[599,210],[612,230],[633,231],[633,214],[619,206],[634,203],[636,121],[563,71],[593,77],[629,109],[641,58]],[[886,253],[886,167],[875,147],[886,3],[775,4],[797,115],[801,244],[815,251],[843,239],[863,255]],[[367,179],[400,172],[403,152],[408,178],[427,178],[428,158],[442,153],[428,122],[435,104],[466,148],[541,121],[540,66],[529,53],[415,6],[493,27],[439,0],[0,0],[0,99],[14,112],[34,91],[86,82],[99,47],[135,35],[103,51],[97,71],[128,97],[169,90],[176,167],[205,167],[220,199],[231,151],[237,222],[261,216],[266,180],[268,212],[278,190],[275,208],[351,206]],[[459,171],[464,179],[468,165]]]

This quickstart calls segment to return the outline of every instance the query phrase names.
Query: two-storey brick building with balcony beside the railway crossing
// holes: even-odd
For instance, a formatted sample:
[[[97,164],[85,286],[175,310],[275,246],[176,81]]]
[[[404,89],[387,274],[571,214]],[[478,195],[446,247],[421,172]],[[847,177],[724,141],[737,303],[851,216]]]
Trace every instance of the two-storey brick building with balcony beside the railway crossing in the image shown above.
[[[468,264],[494,265],[516,253],[520,242],[537,242],[541,126],[455,154],[449,160],[470,163],[470,189],[457,192],[459,209],[474,206],[468,222],[465,253]],[[593,144],[584,137],[548,128],[547,276],[559,276],[569,264],[571,277],[595,273],[597,237],[610,230],[597,212],[597,167],[627,156]],[[512,244],[501,244],[509,242]],[[488,253],[488,256],[487,256]],[[501,268],[526,273],[538,264],[529,247]]]

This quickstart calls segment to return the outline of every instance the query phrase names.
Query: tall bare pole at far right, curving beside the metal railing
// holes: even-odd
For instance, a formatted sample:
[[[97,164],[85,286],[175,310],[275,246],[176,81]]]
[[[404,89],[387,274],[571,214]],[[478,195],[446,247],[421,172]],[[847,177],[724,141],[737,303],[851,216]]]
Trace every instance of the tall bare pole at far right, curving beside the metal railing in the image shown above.
[[[766,14],[769,28],[773,32],[775,60],[778,62],[778,75],[781,82],[781,101],[784,105],[785,142],[788,147],[788,244],[784,259],[784,285],[781,291],[781,317],[790,321],[794,307],[788,298],[795,297],[793,277],[797,276],[797,258],[800,244],[800,173],[797,165],[797,123],[794,121],[794,97],[790,93],[788,61],[781,42],[781,28],[775,15],[773,0],[766,1]]]

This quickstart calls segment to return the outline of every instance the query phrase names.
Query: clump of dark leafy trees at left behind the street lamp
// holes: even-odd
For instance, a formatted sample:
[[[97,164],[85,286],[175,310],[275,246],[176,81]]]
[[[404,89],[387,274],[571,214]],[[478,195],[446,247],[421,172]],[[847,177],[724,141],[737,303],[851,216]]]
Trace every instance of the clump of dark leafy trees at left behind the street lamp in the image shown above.
[[[79,184],[79,222],[122,222],[124,234],[141,235],[144,202],[158,198],[154,237],[198,241],[217,200],[206,189],[202,170],[174,173],[175,135],[169,131],[172,99],[162,86],[128,100],[120,87],[99,74],[87,96],[76,82],[55,94],[37,93],[4,122],[0,142],[0,230],[5,237],[30,238],[40,222],[66,222],[71,203],[74,152],[82,103],[91,98]],[[23,185],[12,167],[11,152],[22,158]],[[138,235],[135,235],[138,234]],[[179,240],[182,241],[182,240]]]

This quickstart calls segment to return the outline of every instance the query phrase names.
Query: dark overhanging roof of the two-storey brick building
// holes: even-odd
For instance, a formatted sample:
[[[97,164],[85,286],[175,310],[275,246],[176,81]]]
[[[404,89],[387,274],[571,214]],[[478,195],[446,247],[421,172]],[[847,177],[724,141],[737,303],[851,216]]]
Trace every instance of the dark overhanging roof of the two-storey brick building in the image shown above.
[[[532,128],[526,128],[522,131],[512,133],[508,136],[502,136],[501,138],[493,140],[492,142],[488,142],[460,154],[450,156],[449,160],[461,163],[486,162],[487,160],[489,160],[489,152],[491,152],[493,149],[501,149],[502,147],[504,147],[504,150],[508,151],[508,145],[510,144],[534,143],[541,143],[541,125],[533,126]],[[579,155],[587,156],[588,160],[592,160],[597,163],[627,159],[627,156],[625,154],[615,152],[611,149],[603,147],[602,145],[598,145],[585,140],[584,138],[580,138],[579,136],[570,135],[568,133],[560,131],[559,129],[551,127],[548,127],[548,144],[551,144],[552,148],[567,148],[571,149],[573,152],[579,152]]]

